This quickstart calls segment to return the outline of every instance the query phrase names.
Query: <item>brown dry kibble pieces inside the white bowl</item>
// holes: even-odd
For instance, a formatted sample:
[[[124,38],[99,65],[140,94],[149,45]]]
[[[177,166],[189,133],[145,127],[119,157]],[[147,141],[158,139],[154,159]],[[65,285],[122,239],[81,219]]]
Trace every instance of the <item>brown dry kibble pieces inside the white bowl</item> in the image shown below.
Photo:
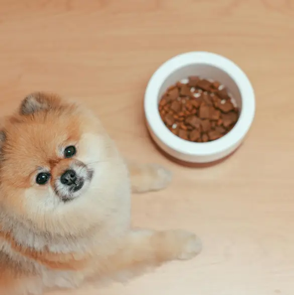
[[[159,102],[159,113],[173,134],[195,142],[224,136],[239,118],[239,110],[226,88],[197,76],[170,86]]]

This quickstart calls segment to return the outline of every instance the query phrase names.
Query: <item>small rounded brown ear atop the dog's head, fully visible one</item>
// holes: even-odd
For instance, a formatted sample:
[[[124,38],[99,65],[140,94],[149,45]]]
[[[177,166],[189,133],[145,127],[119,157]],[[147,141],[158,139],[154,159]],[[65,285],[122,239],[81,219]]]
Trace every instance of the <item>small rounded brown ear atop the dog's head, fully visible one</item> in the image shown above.
[[[54,94],[34,92],[29,94],[22,102],[20,113],[29,115],[35,112],[56,107],[60,104],[60,98]]]

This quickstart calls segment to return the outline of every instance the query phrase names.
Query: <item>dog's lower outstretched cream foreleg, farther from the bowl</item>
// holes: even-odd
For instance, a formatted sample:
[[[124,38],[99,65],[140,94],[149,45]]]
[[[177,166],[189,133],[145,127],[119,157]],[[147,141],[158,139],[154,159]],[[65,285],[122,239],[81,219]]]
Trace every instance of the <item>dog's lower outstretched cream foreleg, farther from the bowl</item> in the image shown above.
[[[186,260],[200,253],[200,239],[182,230],[132,231],[121,250],[107,259],[110,273],[158,266],[165,261]]]

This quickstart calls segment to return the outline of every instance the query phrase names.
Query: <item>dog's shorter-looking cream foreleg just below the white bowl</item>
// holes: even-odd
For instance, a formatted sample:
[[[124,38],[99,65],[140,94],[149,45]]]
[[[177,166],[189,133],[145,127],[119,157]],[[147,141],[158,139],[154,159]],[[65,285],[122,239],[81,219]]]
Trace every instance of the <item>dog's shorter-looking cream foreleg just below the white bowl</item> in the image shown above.
[[[165,188],[171,181],[171,172],[157,164],[127,162],[132,191],[143,193]]]

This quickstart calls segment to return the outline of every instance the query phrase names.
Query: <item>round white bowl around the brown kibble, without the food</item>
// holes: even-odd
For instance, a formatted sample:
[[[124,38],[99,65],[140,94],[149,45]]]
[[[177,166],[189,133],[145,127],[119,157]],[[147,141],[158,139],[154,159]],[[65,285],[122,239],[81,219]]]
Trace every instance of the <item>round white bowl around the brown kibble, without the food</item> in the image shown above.
[[[217,80],[227,87],[240,108],[240,117],[225,136],[210,142],[190,142],[170,132],[162,122],[158,103],[166,89],[188,76]],[[225,158],[241,144],[255,113],[254,91],[245,73],[226,57],[209,52],[188,52],[162,64],[145,92],[144,110],[149,132],[170,156],[190,163],[209,163]]]

